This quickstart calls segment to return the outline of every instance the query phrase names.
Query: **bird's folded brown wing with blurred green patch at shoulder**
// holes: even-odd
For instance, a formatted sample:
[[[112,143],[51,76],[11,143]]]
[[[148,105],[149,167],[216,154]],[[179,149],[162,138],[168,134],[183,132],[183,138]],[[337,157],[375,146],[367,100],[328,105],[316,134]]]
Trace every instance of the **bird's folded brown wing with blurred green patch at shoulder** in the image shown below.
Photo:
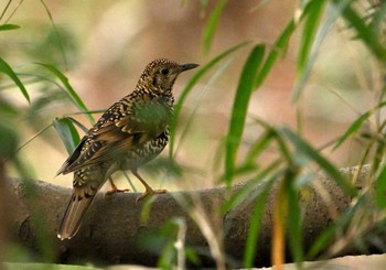
[[[118,105],[107,110],[57,174],[114,160],[132,147],[160,136],[169,123],[170,112],[165,111],[164,106],[150,104],[146,107],[140,110],[126,108],[125,114],[118,114],[117,110],[121,109]]]

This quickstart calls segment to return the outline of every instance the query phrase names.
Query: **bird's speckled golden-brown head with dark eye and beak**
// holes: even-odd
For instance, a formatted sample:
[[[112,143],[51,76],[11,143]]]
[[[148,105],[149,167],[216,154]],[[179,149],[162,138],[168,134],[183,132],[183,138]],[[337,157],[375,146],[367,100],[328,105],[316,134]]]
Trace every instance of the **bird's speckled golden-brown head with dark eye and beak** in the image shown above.
[[[140,82],[157,91],[171,91],[175,78],[183,72],[197,67],[197,64],[178,64],[174,61],[161,58],[147,65]]]

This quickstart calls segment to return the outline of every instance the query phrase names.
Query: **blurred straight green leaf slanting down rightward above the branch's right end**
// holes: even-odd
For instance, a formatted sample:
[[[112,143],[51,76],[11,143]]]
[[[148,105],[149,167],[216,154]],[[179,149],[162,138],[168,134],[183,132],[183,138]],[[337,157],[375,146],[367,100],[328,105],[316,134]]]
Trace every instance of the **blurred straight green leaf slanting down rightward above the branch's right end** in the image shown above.
[[[296,147],[299,153],[308,156],[310,160],[314,161],[326,174],[331,176],[349,195],[354,196],[357,192],[356,190],[346,182],[337,169],[332,165],[325,158],[323,158],[317,150],[314,150],[310,144],[303,141],[298,134],[288,128],[280,128],[279,132],[288,138]]]

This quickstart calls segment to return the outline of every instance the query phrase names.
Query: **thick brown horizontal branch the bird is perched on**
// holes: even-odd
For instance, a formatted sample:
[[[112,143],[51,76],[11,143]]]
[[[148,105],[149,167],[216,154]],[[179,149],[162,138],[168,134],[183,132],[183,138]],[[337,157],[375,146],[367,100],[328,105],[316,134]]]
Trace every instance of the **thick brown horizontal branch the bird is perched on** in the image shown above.
[[[356,173],[356,168],[342,169],[342,174],[350,176]],[[356,183],[357,188],[364,186],[369,168],[364,166]],[[331,181],[325,174],[319,173],[315,183],[324,186],[325,194],[333,201],[339,213],[346,209],[351,197]],[[141,218],[143,203],[136,205],[138,194],[98,194],[87,213],[78,234],[71,240],[61,241],[56,238],[56,229],[71,196],[71,190],[51,185],[41,181],[10,180],[8,188],[17,199],[12,206],[10,235],[47,260],[62,263],[79,261],[99,261],[101,263],[141,263],[152,266],[157,255],[143,247],[143,236],[158,231],[171,217],[183,217],[186,220],[186,242],[196,247],[207,247],[206,240],[196,224],[190,218],[186,208],[178,203],[175,196],[200,198],[202,206],[212,224],[222,224],[224,249],[227,258],[242,261],[250,216],[255,202],[240,204],[236,209],[226,213],[218,219],[218,207],[229,195],[243,188],[246,183],[237,184],[227,191],[224,187],[203,190],[199,192],[176,192],[157,195],[146,222]],[[259,187],[257,187],[259,188]],[[305,247],[310,247],[317,236],[332,222],[329,206],[318,191],[310,191],[305,206],[303,237]],[[317,192],[318,191],[318,192]],[[268,196],[262,214],[256,264],[270,263],[271,219],[276,187]],[[330,202],[331,203],[331,202]],[[331,205],[330,205],[331,206]],[[157,244],[153,244],[153,246]],[[154,248],[154,247],[153,247]],[[350,251],[351,253],[353,250]],[[204,259],[205,261],[205,259]],[[208,262],[207,260],[206,262]]]

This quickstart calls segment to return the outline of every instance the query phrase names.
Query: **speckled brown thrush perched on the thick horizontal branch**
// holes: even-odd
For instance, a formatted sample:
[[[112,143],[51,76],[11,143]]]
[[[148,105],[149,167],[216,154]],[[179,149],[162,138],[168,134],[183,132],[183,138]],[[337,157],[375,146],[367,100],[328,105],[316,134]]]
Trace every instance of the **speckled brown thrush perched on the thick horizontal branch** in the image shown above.
[[[181,73],[197,66],[167,58],[152,61],[135,89],[108,108],[83,137],[56,174],[74,173],[72,197],[57,231],[61,240],[76,235],[95,195],[107,180],[112,183],[111,192],[119,192],[111,180],[116,171],[129,170],[143,184],[144,193],[137,197],[137,203],[150,194],[167,192],[153,190],[138,169],[168,144],[174,82]]]

